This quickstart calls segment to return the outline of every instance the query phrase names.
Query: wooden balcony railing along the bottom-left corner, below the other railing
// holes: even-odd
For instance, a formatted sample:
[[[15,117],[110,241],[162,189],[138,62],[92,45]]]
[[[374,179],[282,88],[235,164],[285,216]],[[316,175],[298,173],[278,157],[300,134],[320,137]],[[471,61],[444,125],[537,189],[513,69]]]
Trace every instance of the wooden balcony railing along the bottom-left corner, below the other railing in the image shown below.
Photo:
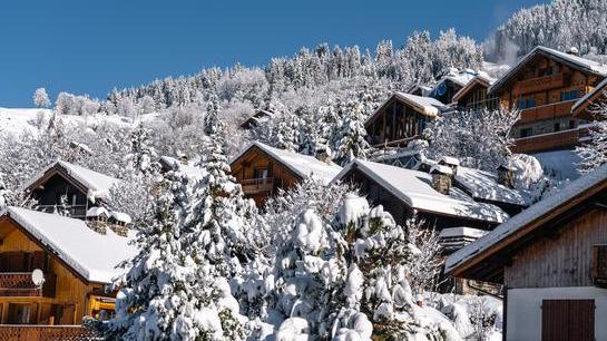
[[[2,341],[97,341],[102,340],[80,325],[0,324]]]

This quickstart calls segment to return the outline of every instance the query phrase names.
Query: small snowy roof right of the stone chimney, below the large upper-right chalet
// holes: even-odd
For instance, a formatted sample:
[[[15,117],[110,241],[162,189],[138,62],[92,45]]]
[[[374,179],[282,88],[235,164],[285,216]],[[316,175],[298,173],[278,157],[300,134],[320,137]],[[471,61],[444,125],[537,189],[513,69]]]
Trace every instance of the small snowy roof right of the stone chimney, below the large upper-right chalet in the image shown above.
[[[456,174],[456,182],[474,198],[519,206],[527,206],[529,202],[526,192],[501,185],[498,176],[491,172],[460,166]]]

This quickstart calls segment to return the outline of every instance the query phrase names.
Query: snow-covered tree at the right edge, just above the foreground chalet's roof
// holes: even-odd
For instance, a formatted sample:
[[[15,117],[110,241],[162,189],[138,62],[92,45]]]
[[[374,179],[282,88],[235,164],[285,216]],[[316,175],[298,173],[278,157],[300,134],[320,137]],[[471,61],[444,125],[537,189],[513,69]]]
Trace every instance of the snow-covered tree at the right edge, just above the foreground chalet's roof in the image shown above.
[[[588,128],[589,138],[576,147],[581,158],[578,170],[589,173],[607,163],[607,103],[603,101],[591,107],[595,121]]]

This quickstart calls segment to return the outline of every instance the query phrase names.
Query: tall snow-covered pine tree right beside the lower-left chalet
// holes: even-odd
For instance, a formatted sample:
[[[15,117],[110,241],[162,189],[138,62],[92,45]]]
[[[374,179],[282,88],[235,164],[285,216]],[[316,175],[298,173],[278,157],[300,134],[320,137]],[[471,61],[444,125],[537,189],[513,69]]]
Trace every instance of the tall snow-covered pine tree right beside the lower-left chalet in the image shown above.
[[[187,177],[168,173],[157,189],[154,223],[140,226],[139,253],[123,264],[129,270],[116,283],[116,316],[97,327],[116,341],[218,340],[221,325],[200,301],[196,263],[182,241]]]

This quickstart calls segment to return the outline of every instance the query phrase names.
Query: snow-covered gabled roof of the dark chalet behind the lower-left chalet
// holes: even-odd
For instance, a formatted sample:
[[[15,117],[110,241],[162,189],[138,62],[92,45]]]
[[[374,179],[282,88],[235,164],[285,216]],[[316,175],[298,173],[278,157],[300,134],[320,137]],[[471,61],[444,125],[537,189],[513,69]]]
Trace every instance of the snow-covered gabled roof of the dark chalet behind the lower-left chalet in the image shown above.
[[[88,191],[87,196],[91,199],[101,198],[106,199],[109,195],[109,189],[114,185],[121,183],[120,179],[117,179],[105,174],[70,164],[65,160],[56,160],[55,163],[48,165],[42,170],[38,172],[36,176],[30,178],[21,186],[21,191],[30,188],[36,182],[42,178],[49,170],[60,167],[62,168],[70,177],[77,181],[79,184],[85,186]]]

